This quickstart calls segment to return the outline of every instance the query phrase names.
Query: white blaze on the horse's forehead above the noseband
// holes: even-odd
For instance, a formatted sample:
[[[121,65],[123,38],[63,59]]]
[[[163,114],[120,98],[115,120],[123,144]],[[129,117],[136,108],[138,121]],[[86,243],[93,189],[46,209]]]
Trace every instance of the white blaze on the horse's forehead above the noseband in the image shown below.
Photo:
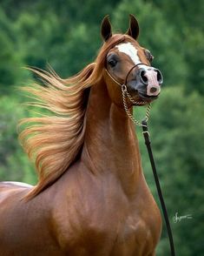
[[[117,47],[118,51],[123,52],[126,55],[128,55],[128,57],[130,57],[132,59],[134,64],[141,63],[141,60],[137,55],[137,50],[135,49],[133,44],[128,42],[128,43],[118,44],[118,45],[116,45],[116,47]]]

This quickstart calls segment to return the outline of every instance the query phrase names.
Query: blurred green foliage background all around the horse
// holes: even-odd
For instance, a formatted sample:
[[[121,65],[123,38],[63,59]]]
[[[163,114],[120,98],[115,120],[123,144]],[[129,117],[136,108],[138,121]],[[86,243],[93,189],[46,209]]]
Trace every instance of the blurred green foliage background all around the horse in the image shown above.
[[[110,14],[115,31],[125,32],[128,14],[133,13],[141,26],[139,42],[153,53],[154,66],[161,69],[165,80],[161,97],[153,104],[149,129],[176,255],[203,255],[203,12],[201,0],[2,0],[0,180],[36,183],[34,167],[17,142],[17,121],[30,115],[16,91],[32,78],[22,67],[46,69],[49,63],[60,76],[69,77],[95,59],[102,44],[102,17]],[[145,176],[158,200],[137,130]],[[180,216],[192,214],[193,219],[173,223],[176,212]],[[157,255],[169,255],[165,227]]]

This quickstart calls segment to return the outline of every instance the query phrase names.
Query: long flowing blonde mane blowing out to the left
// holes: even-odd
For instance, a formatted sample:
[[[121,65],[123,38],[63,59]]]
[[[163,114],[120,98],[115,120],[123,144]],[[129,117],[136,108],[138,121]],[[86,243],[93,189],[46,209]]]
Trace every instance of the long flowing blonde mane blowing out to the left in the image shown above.
[[[32,70],[43,79],[44,85],[33,84],[23,88],[36,101],[30,103],[49,110],[52,114],[38,118],[25,118],[20,125],[26,128],[20,133],[25,152],[36,164],[38,183],[26,196],[34,198],[48,185],[66,172],[79,154],[85,134],[87,109],[86,89],[102,78],[109,50],[128,39],[114,35],[102,45],[95,62],[89,64],[74,77],[62,79],[54,71]]]

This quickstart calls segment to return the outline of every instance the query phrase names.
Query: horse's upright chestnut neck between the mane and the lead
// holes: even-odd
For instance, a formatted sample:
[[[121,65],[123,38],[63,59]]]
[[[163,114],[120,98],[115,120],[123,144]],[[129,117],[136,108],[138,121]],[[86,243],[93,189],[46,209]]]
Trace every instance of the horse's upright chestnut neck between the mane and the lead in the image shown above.
[[[135,126],[126,112],[112,103],[103,80],[89,93],[82,161],[90,172],[115,175],[130,190],[141,174]]]

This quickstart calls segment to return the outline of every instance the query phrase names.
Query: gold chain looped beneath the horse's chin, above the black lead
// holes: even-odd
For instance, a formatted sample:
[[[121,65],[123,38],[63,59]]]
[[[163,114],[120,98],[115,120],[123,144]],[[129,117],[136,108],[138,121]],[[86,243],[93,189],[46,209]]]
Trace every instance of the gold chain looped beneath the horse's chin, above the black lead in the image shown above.
[[[139,126],[142,126],[141,122],[136,120],[134,118],[134,116],[131,114],[131,112],[128,110],[128,104],[127,104],[127,100],[126,100],[126,96],[128,97],[128,99],[130,100],[131,103],[133,104],[144,104],[143,101],[135,101],[131,95],[128,93],[128,90],[127,90],[127,86],[125,84],[122,84],[122,101],[123,101],[123,105],[124,105],[124,109],[128,115],[128,118],[135,124],[135,125],[139,125]],[[145,114],[145,118],[144,120],[146,122],[148,122],[148,118],[149,118],[149,112],[151,110],[151,104],[149,103],[148,104],[148,108],[147,108],[147,111],[146,111],[146,114]]]

